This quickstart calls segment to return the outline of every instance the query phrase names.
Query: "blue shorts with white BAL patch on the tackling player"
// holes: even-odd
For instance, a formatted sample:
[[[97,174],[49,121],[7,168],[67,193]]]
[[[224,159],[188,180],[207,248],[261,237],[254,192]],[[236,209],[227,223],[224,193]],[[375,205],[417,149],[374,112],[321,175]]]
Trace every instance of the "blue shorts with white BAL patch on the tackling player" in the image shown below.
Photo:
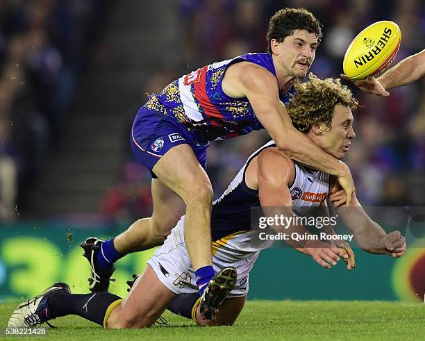
[[[176,119],[142,106],[131,128],[131,148],[135,157],[149,169],[152,178],[153,166],[173,147],[189,144],[199,163],[206,169],[206,149],[199,146],[190,132]]]

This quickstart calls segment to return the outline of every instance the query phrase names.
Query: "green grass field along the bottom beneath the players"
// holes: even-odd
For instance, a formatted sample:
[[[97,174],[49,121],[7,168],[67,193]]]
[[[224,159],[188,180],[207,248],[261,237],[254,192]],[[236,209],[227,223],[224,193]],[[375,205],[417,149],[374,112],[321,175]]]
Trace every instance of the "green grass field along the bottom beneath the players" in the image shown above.
[[[15,303],[0,305],[6,326]],[[61,317],[52,340],[425,340],[422,303],[383,301],[248,301],[234,326],[201,328],[166,312],[169,326],[106,331],[81,317]],[[32,337],[34,338],[34,337]],[[4,340],[16,340],[4,338]],[[19,340],[26,339],[19,337]]]

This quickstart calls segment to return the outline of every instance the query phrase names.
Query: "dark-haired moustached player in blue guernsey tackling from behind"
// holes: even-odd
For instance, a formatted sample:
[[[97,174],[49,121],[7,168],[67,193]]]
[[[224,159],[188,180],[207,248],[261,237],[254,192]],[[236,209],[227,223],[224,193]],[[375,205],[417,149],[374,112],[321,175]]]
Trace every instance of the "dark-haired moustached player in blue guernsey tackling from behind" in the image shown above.
[[[162,244],[183,213],[201,296],[208,283],[213,285],[213,189],[205,172],[210,141],[265,128],[288,156],[336,176],[347,203],[351,201],[355,187],[347,165],[297,131],[285,108],[294,83],[313,63],[321,38],[322,25],[312,13],[279,10],[269,22],[267,53],[247,53],[201,67],[149,97],[135,117],[131,146],[152,175],[153,214],[112,240],[88,238],[82,244],[92,267],[92,292],[108,290],[113,263],[126,253]],[[213,307],[205,306],[209,308]]]

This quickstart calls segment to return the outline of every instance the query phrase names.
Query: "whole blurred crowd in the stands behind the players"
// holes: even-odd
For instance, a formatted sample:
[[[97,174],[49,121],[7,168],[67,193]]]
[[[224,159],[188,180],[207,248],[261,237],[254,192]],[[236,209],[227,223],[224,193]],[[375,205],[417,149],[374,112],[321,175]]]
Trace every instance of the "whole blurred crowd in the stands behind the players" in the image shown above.
[[[28,188],[60,138],[66,112],[88,49],[97,39],[108,1],[0,1],[0,210],[17,202],[16,188]],[[425,7],[421,0],[176,0],[179,38],[174,64],[158,58],[156,72],[140,80],[146,92],[208,63],[247,52],[266,51],[267,19],[285,7],[304,7],[324,25],[311,71],[338,77],[352,38],[378,20],[397,22],[401,48],[393,65],[424,49]],[[165,23],[166,24],[166,23]],[[141,38],[142,39],[142,38]],[[7,43],[6,43],[7,42]],[[158,51],[158,54],[165,51]],[[158,56],[159,57],[159,56]],[[390,90],[380,99],[350,86],[360,101],[357,138],[347,156],[358,197],[365,205],[425,206],[425,80]],[[137,99],[135,99],[137,101]],[[141,105],[142,103],[137,103]],[[224,142],[208,150],[208,174],[216,197],[265,132]],[[128,143],[128,137],[123,140]],[[119,142],[117,142],[119,143]],[[18,182],[18,187],[13,185]],[[18,190],[19,192],[19,190]],[[115,187],[99,203],[108,218],[134,219],[151,212],[150,177],[128,155]]]

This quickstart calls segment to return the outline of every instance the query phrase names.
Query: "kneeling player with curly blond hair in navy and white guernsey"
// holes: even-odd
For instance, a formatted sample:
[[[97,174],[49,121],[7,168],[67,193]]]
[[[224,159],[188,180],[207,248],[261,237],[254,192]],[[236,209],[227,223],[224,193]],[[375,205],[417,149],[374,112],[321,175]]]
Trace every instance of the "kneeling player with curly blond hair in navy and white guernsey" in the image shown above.
[[[309,82],[297,84],[296,88],[299,96],[293,97],[288,106],[294,125],[326,153],[344,158],[355,137],[351,109],[356,108],[356,99],[340,81],[331,78],[322,81],[310,76]],[[289,158],[272,141],[251,155],[213,204],[213,265],[218,274],[203,297],[214,308],[201,311],[194,281],[196,268],[185,244],[187,217],[183,216],[148,261],[126,299],[109,292],[71,294],[67,284],[56,283],[22,303],[10,317],[8,327],[29,327],[56,317],[78,315],[105,328],[142,328],[154,324],[166,308],[193,317],[202,326],[231,325],[244,306],[249,272],[258,253],[271,245],[271,239],[260,237],[263,230],[250,229],[251,207],[261,206],[265,217],[269,217],[270,207],[275,208],[273,213],[277,209],[285,217],[292,217],[292,210],[301,215],[301,211],[308,213],[305,209],[326,207],[330,193],[340,219],[359,247],[392,257],[406,252],[406,240],[401,233],[385,233],[365,213],[355,194],[349,208],[341,206],[347,202],[347,196],[335,176]],[[288,234],[309,235],[299,224],[291,223],[285,229]],[[340,257],[347,260],[349,269],[355,266],[347,244],[326,244],[315,239],[300,242],[296,238],[287,242],[312,256],[322,267],[336,265]]]

